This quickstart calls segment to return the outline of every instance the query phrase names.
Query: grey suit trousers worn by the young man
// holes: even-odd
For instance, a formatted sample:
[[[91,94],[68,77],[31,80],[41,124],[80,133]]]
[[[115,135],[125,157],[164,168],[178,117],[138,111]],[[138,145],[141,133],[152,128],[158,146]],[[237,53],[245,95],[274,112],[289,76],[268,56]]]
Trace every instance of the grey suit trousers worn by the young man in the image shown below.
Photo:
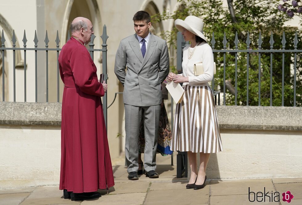
[[[140,122],[144,119],[145,128],[145,171],[156,170],[156,149],[158,124],[161,112],[161,105],[147,107],[125,105],[125,155],[128,166],[128,173],[138,171],[138,137]]]

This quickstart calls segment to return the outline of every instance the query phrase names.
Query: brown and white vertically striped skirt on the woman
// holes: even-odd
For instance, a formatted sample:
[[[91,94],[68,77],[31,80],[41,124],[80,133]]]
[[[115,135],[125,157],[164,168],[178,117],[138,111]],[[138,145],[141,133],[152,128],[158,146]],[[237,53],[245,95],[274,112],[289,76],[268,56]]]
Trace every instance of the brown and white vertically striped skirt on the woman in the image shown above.
[[[222,151],[214,96],[210,86],[183,86],[176,105],[171,150],[216,153]]]

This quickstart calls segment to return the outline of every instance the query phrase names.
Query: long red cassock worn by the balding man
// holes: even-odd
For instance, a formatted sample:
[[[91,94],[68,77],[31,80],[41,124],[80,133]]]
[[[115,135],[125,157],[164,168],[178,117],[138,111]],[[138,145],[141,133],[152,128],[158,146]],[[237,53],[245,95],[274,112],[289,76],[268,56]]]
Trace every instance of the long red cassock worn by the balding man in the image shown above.
[[[71,37],[59,55],[62,101],[60,190],[93,192],[114,186],[96,66]]]

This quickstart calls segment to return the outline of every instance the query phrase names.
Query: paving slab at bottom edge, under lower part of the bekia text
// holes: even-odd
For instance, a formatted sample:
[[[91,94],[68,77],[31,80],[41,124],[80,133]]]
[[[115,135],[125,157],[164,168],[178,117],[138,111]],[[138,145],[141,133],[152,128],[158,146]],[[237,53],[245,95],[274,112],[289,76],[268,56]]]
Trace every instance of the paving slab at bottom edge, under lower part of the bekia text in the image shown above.
[[[254,200],[254,198],[250,198],[251,201]],[[260,201],[260,199],[259,199]],[[271,205],[278,205],[279,202],[268,202],[266,200],[266,202],[249,202],[248,200],[248,195],[247,194],[243,194],[243,195],[223,195],[223,196],[211,196],[210,197],[210,205],[245,205],[245,204],[251,204],[251,205],[266,205],[266,204],[271,204]],[[292,205],[292,204],[291,204]]]

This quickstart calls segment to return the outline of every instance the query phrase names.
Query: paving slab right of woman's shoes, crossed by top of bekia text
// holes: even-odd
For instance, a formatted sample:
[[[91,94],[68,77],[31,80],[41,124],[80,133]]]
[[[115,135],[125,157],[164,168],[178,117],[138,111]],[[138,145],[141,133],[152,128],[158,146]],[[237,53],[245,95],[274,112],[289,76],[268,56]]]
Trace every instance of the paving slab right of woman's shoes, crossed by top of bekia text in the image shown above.
[[[271,179],[240,179],[240,180],[211,180],[211,195],[241,195],[248,194],[250,191],[255,193],[261,191],[275,191]]]

